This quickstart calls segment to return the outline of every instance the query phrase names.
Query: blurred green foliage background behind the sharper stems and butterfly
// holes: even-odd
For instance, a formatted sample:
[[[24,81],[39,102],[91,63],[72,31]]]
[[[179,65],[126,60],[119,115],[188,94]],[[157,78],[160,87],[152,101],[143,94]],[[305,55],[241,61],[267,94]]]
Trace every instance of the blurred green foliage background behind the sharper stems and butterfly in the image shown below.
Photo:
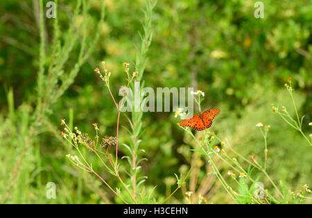
[[[107,187],[94,176],[70,164],[65,155],[71,147],[60,138],[60,119],[72,117],[73,126],[93,134],[115,135],[116,110],[94,67],[105,60],[112,72],[112,90],[124,83],[123,62],[134,69],[136,47],[140,44],[144,1],[106,0],[105,19],[100,17],[101,1],[90,0],[87,35],[100,33],[92,54],[80,67],[73,83],[46,113],[29,146],[23,138],[35,110],[40,51],[39,1],[0,1],[0,199],[3,203],[114,203]],[[306,115],[303,130],[312,132],[312,1],[263,1],[264,18],[254,17],[255,1],[159,0],[153,11],[153,41],[147,53],[143,79],[148,87],[195,87],[205,92],[203,108],[218,107],[212,131],[226,139],[243,156],[262,156],[263,139],[255,124],[271,126],[268,134],[268,173],[283,181],[289,190],[312,185],[312,148],[300,133],[289,128],[271,110],[271,103],[291,109],[284,87],[288,77],[295,84],[300,115]],[[44,1],[45,6],[46,1]],[[71,25],[76,1],[59,1],[60,35]],[[46,8],[44,7],[44,10]],[[53,19],[44,20],[46,50],[53,38]],[[77,32],[77,34],[80,34]],[[92,39],[90,39],[92,40]],[[80,42],[65,63],[72,69]],[[49,57],[47,58],[49,59]],[[49,68],[49,60],[45,64]],[[14,101],[13,101],[14,99]],[[190,165],[191,151],[184,132],[177,127],[173,112],[144,113],[141,148],[146,152],[141,174],[146,189],[156,199],[174,188],[174,173]],[[121,116],[121,126],[128,121]],[[128,133],[121,128],[120,140]],[[121,156],[123,151],[121,150]],[[107,178],[110,175],[94,163]],[[205,174],[205,167],[201,167]],[[165,169],[165,170],[164,170]],[[220,169],[223,166],[220,165]],[[223,172],[226,174],[227,168]],[[202,178],[202,174],[198,177]],[[46,199],[46,183],[56,184],[55,199]],[[173,182],[172,182],[173,181]],[[213,179],[205,197],[211,203],[230,203],[223,187]],[[188,190],[188,188],[187,188]],[[183,203],[175,194],[171,203]]]

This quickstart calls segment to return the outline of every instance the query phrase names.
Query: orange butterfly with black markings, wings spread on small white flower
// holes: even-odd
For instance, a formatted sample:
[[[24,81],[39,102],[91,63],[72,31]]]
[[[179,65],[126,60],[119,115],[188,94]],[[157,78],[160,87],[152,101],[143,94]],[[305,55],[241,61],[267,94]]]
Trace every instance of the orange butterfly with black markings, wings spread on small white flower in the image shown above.
[[[183,119],[178,123],[179,126],[191,127],[197,131],[202,131],[209,128],[214,120],[214,117],[220,112],[219,109],[205,110],[205,112],[200,112],[198,115],[194,115],[192,118]]]

